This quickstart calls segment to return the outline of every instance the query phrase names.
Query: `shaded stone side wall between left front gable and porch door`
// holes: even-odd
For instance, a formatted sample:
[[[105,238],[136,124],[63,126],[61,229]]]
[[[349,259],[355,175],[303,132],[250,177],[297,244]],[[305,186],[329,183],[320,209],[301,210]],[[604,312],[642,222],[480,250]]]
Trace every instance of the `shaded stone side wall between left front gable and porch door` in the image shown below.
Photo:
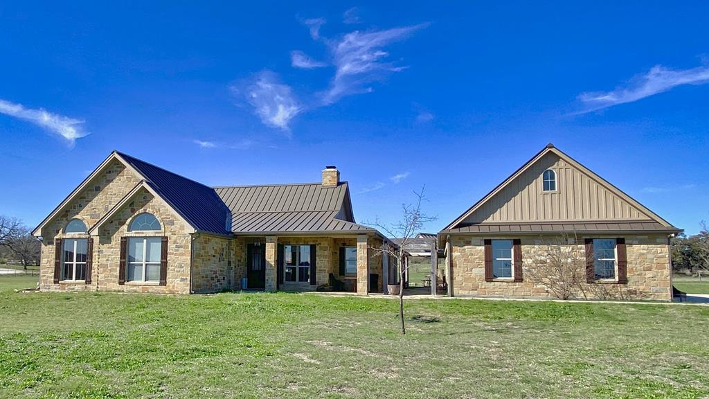
[[[234,288],[232,270],[234,240],[228,237],[199,234],[192,246],[192,290],[194,293],[218,293]]]

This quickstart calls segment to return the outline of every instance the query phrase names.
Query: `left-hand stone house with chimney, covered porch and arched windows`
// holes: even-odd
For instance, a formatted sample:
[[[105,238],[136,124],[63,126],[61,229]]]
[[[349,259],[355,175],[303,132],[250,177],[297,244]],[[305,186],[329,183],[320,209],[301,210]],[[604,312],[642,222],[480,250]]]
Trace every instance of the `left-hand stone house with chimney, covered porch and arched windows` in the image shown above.
[[[113,151],[33,230],[41,290],[367,294],[391,279],[389,241],[354,221],[335,167],[320,182],[208,187]]]

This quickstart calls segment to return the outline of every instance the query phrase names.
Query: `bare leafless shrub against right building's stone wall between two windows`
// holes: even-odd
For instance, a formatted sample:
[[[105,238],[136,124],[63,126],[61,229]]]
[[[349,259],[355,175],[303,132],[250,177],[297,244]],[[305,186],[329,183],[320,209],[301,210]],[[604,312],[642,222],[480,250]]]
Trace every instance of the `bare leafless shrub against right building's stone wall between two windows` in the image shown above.
[[[584,287],[586,251],[577,243],[576,234],[540,239],[530,255],[525,256],[525,278],[561,300],[574,299],[578,294],[588,299]]]

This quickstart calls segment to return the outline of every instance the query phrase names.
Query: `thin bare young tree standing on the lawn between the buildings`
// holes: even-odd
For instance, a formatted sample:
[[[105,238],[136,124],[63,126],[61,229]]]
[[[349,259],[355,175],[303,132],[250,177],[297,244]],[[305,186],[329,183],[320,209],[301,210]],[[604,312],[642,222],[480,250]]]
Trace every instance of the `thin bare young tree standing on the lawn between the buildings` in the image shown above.
[[[401,219],[393,224],[380,223],[379,219],[374,223],[368,223],[371,226],[375,226],[378,229],[389,236],[390,239],[398,239],[398,246],[392,246],[389,244],[383,244],[381,247],[372,247],[375,253],[383,255],[386,253],[396,260],[398,266],[398,280],[399,280],[399,321],[401,322],[401,334],[406,334],[406,324],[403,319],[403,280],[406,270],[408,269],[408,263],[406,262],[406,246],[415,238],[418,231],[423,229],[424,224],[434,221],[435,217],[429,217],[421,211],[421,203],[426,201],[424,195],[425,185],[421,187],[420,191],[414,191],[413,194],[416,197],[415,202],[411,204],[401,204]],[[434,276],[435,278],[435,276]],[[386,283],[386,282],[384,282]]]

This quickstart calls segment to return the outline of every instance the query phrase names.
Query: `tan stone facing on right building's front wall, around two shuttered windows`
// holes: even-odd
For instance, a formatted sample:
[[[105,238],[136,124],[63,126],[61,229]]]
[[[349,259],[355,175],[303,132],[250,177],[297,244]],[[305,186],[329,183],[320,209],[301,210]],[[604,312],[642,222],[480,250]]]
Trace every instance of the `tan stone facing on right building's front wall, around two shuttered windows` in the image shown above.
[[[610,297],[616,299],[648,299],[671,300],[672,285],[669,266],[669,244],[667,236],[619,235],[625,237],[627,251],[627,284],[603,284]],[[589,238],[603,238],[588,236]],[[454,295],[473,295],[481,297],[553,297],[543,285],[525,280],[525,270],[532,255],[544,245],[554,242],[559,236],[497,236],[485,239],[515,239],[520,238],[522,244],[523,282],[485,281],[484,245],[480,236],[451,236],[452,251],[452,288]],[[584,237],[569,247],[585,253]],[[615,236],[613,236],[615,238]],[[538,252],[537,252],[538,253]],[[584,284],[591,290],[590,284]],[[581,297],[581,294],[578,294]],[[583,299],[583,297],[581,297]],[[589,298],[593,299],[593,298]]]

